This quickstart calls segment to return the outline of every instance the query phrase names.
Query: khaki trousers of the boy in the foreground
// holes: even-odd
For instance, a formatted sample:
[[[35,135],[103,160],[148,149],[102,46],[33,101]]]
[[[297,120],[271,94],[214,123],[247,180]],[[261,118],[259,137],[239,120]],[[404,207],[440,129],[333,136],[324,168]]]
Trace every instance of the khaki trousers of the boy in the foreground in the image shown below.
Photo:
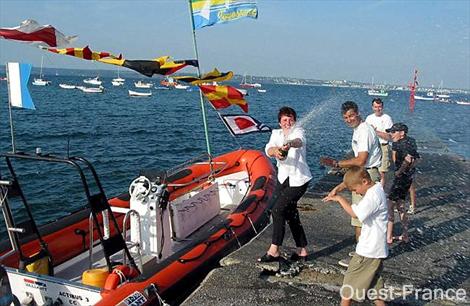
[[[362,302],[367,296],[367,290],[373,288],[378,292],[384,287],[382,270],[382,258],[368,258],[355,254],[344,275],[341,297]]]

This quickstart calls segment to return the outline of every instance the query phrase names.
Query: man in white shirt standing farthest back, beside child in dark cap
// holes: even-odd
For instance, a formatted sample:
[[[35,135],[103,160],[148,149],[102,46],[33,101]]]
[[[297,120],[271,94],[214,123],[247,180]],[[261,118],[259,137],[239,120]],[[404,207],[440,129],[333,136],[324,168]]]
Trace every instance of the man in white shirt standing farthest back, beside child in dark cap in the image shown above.
[[[384,104],[380,98],[375,98],[372,100],[372,110],[373,114],[370,114],[366,118],[366,122],[369,123],[375,130],[375,133],[379,137],[380,148],[382,149],[382,164],[379,167],[380,173],[380,182],[382,186],[385,186],[385,173],[390,170],[390,135],[385,132],[386,129],[389,129],[393,125],[392,118],[384,114]]]

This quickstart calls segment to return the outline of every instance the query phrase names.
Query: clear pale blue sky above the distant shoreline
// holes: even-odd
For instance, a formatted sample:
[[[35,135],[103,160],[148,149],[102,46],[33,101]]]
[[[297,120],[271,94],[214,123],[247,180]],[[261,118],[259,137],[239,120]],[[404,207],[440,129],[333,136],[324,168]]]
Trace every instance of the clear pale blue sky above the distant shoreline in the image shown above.
[[[470,89],[470,0],[258,0],[258,19],[196,31],[203,72]],[[126,59],[194,58],[186,0],[0,0],[0,27],[25,19]],[[114,69],[0,39],[0,63]],[[184,70],[187,72],[194,72]],[[0,73],[1,74],[1,73]]]

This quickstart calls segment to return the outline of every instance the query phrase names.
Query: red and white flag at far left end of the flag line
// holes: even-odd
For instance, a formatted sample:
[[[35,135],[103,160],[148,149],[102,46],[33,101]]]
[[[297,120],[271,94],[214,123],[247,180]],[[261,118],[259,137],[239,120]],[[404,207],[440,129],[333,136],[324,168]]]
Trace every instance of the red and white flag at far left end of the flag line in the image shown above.
[[[0,38],[34,43],[53,48],[67,47],[77,36],[65,36],[51,25],[40,25],[32,19],[14,28],[0,28]]]

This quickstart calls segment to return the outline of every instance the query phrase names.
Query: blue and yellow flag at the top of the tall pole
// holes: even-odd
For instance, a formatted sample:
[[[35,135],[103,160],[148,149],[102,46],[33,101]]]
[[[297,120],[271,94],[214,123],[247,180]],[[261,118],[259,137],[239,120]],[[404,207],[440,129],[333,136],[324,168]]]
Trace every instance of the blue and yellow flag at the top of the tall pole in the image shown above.
[[[258,18],[256,0],[191,0],[191,9],[194,29],[243,17]]]

